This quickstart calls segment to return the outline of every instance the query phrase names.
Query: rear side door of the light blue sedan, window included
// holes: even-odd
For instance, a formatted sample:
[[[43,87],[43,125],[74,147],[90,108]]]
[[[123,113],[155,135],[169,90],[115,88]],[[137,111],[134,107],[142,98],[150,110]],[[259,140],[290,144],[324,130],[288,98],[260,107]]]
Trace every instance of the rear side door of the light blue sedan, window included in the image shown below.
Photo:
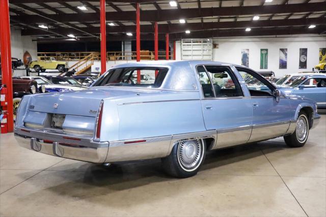
[[[197,66],[202,87],[202,110],[207,130],[217,130],[215,147],[247,143],[251,134],[252,104],[244,97],[234,72],[227,66]]]

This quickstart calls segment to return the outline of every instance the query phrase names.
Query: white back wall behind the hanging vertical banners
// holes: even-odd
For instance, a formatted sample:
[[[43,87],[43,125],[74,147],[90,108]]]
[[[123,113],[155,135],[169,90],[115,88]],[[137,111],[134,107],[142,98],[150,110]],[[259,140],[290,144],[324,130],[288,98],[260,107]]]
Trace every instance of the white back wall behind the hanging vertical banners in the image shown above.
[[[260,69],[260,49],[268,49],[268,68],[276,76],[300,71],[311,71],[319,61],[319,48],[326,47],[326,37],[282,37],[282,38],[217,38],[218,48],[213,49],[213,60],[241,64],[241,49],[249,49],[249,67]],[[181,59],[181,43],[176,43],[176,58]],[[279,49],[287,48],[287,69],[279,69]],[[299,69],[299,49],[308,48],[307,69]]]

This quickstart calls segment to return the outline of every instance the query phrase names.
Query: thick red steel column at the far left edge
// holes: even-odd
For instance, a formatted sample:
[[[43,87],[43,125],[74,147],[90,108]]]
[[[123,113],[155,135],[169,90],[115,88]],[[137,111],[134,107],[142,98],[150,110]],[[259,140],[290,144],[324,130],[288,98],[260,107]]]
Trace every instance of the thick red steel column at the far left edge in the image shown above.
[[[8,132],[14,130],[14,115],[12,102],[12,76],[11,76],[11,43],[10,43],[10,21],[8,0],[0,0],[0,48],[1,48],[1,67],[2,84],[7,88],[6,102],[4,111],[7,111]]]

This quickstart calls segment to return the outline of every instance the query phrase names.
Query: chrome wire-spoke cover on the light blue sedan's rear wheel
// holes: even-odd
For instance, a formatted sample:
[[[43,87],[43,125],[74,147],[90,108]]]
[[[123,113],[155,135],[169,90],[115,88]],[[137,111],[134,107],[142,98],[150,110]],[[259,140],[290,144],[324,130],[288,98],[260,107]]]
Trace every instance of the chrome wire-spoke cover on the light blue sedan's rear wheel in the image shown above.
[[[185,171],[196,170],[203,159],[203,142],[201,140],[187,140],[179,143],[178,161]]]

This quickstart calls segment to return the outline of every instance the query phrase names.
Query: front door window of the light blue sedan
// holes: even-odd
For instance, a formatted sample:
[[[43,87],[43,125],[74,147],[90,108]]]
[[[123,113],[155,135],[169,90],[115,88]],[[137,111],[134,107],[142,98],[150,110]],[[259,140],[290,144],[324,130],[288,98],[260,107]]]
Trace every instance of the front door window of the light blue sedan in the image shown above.
[[[267,80],[250,70],[236,68],[246,83],[251,96],[272,96],[273,88]]]

